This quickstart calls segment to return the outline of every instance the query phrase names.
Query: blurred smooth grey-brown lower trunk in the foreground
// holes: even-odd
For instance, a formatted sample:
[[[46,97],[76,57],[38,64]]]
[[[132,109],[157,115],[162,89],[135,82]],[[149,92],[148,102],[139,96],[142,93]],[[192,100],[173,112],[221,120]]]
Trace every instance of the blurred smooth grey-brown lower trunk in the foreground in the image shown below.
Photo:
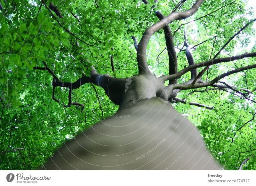
[[[220,170],[198,130],[161,98],[105,119],[49,159],[47,170]]]

